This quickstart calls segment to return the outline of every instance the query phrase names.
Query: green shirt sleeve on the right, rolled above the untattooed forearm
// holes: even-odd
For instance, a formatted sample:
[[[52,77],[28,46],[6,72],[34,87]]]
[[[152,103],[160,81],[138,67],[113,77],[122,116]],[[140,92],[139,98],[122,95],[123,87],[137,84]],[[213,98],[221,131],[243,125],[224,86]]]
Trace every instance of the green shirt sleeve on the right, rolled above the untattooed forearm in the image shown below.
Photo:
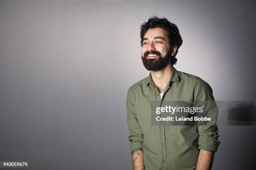
[[[214,101],[212,89],[209,84],[200,81],[195,88],[195,101]],[[211,108],[207,111],[207,115],[215,117],[217,120],[218,107],[214,102],[211,102]],[[218,141],[218,127],[216,125],[199,125],[197,126],[199,139],[198,145],[200,150],[209,150],[216,152],[220,142]]]

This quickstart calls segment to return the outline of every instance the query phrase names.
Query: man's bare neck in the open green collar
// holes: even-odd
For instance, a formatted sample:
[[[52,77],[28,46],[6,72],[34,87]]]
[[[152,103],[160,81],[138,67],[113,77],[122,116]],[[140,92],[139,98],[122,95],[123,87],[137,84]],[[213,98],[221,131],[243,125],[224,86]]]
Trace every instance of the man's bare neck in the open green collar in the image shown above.
[[[169,63],[164,69],[159,71],[151,71],[152,80],[158,88],[159,92],[162,93],[166,89],[170,76],[172,75],[172,65]]]

